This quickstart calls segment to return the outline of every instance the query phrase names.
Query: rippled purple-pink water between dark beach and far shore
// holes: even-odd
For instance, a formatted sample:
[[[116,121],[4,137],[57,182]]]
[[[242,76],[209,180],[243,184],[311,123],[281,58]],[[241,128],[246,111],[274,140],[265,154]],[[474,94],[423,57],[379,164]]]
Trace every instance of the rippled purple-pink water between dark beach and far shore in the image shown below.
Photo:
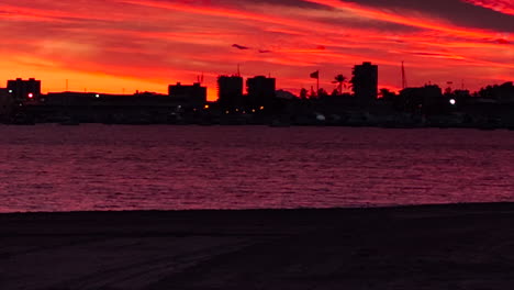
[[[514,201],[514,132],[0,125],[0,212]]]

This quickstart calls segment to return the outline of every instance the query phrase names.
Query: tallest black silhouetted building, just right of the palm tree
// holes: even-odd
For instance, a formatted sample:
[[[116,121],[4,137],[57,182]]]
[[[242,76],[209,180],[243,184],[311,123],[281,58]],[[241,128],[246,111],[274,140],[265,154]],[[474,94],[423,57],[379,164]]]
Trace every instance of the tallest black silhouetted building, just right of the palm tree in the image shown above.
[[[362,104],[369,104],[378,98],[378,66],[362,63],[354,67],[353,89]]]

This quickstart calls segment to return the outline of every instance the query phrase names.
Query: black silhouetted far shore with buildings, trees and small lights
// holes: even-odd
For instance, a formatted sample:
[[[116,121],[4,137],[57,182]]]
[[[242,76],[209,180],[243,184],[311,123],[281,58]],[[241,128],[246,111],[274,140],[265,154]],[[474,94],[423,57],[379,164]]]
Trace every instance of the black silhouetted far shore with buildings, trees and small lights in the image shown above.
[[[320,82],[320,70],[311,74]],[[192,85],[168,87],[168,94],[135,92],[41,92],[35,79],[9,80],[0,89],[0,122],[199,125],[336,125],[381,127],[514,129],[514,85],[469,90],[427,83],[399,93],[379,89],[379,67],[364,63],[353,77],[337,75],[332,93],[277,90],[276,79],[239,75],[217,78],[219,100],[208,102],[203,76]],[[353,92],[345,91],[351,87]]]

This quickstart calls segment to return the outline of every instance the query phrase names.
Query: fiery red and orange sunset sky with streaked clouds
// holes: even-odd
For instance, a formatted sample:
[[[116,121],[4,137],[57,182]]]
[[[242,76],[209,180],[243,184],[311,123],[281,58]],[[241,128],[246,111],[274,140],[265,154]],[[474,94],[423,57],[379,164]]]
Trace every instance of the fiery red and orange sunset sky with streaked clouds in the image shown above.
[[[477,90],[514,80],[513,33],[511,0],[2,0],[0,86],[166,92],[203,72],[214,100],[237,64],[298,93],[314,70],[331,91],[372,62],[380,87],[398,89],[404,60],[409,86]]]

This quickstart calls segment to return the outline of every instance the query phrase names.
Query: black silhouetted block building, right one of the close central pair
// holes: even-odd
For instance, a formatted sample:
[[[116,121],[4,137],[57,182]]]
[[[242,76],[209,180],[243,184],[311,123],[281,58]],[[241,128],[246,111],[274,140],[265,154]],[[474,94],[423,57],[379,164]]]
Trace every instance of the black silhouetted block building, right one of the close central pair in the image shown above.
[[[246,89],[252,105],[266,105],[273,101],[276,97],[277,80],[257,76],[246,80]]]

